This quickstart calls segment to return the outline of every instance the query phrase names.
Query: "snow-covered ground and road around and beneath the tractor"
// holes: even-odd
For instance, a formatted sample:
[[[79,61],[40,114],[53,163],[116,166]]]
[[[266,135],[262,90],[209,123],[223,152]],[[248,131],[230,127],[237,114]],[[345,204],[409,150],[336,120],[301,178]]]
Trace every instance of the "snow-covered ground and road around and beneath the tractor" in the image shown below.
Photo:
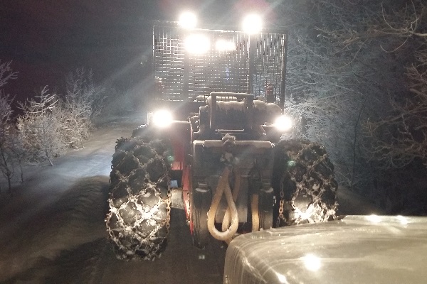
[[[115,258],[104,222],[110,162],[117,138],[130,136],[141,121],[102,124],[84,149],[69,151],[53,167],[26,167],[14,197],[0,195],[0,283],[222,283],[225,248],[218,241],[203,251],[194,248],[178,209],[172,209],[162,258]],[[372,212],[351,192],[340,199],[348,209],[342,214]]]

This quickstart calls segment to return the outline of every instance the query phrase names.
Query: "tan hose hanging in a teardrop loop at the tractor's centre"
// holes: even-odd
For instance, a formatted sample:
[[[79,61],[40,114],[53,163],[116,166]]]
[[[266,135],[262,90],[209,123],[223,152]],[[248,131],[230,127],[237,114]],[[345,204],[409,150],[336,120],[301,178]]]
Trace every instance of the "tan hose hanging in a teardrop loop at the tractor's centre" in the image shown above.
[[[230,185],[228,185],[228,175],[230,175],[230,170],[226,167],[223,170],[221,177],[219,178],[218,186],[216,187],[216,192],[214,198],[212,199],[211,208],[209,208],[208,212],[209,232],[212,236],[214,236],[215,239],[219,241],[231,240],[238,229],[238,213],[236,209],[236,204],[233,201],[233,195],[231,194]],[[215,228],[215,214],[223,193],[226,195],[228,208],[231,212],[231,225],[228,227],[228,229],[226,229],[226,231],[218,231]]]

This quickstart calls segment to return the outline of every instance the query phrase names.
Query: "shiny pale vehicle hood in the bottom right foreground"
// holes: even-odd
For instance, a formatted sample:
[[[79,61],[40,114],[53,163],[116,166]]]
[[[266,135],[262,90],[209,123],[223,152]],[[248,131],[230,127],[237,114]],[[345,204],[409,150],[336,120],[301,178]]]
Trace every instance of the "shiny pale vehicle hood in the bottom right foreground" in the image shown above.
[[[348,216],[244,234],[223,283],[427,283],[427,217]]]

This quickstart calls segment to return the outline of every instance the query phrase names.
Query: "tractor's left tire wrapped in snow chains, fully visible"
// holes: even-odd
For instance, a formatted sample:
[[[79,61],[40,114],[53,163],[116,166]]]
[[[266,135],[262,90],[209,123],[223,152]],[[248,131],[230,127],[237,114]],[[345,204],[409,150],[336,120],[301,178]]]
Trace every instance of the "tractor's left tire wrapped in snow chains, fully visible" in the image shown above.
[[[143,138],[117,141],[106,218],[117,258],[154,260],[166,248],[170,209],[165,149],[161,142]]]

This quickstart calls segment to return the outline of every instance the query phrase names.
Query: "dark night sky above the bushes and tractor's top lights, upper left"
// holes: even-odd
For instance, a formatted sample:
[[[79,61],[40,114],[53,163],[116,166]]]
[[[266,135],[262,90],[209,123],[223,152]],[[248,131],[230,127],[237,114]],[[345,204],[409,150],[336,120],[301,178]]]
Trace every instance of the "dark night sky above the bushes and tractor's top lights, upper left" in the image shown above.
[[[154,20],[176,20],[192,9],[203,21],[236,22],[239,13],[262,11],[264,0],[2,0],[0,59],[13,60],[18,79],[6,93],[30,97],[48,85],[60,92],[78,67],[97,83],[125,90],[141,82],[149,65]]]

